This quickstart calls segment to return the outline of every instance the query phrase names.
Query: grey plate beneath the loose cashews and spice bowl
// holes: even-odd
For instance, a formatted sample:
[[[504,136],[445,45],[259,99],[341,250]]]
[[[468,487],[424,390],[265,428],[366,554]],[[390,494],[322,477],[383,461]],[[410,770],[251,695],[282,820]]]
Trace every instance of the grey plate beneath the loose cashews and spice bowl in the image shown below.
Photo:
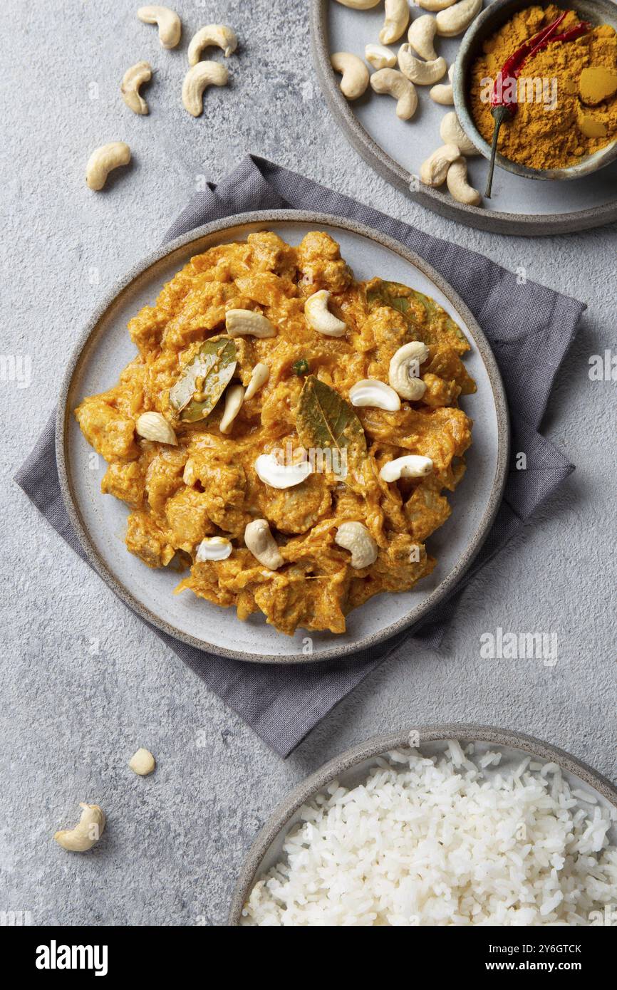
[[[490,3],[485,3],[487,6]],[[617,5],[612,0],[602,0],[600,7],[603,19],[617,27]],[[412,20],[426,13],[411,7]],[[334,51],[352,51],[363,58],[364,46],[378,41],[382,24],[382,4],[370,10],[354,10],[336,0],[311,0],[313,59],[324,96],[347,139],[375,171],[411,199],[442,216],[495,234],[541,237],[583,231],[617,220],[617,161],[569,182],[537,181],[496,168],[492,198],[477,207],[457,203],[446,186],[431,189],[423,185],[418,179],[420,165],[443,144],[440,123],[454,107],[434,103],[429,96],[430,86],[418,86],[419,106],[414,117],[410,121],[398,120],[394,101],[373,93],[370,86],[360,99],[348,101],[339,88],[341,76],[330,64]],[[463,37],[436,38],[437,52],[449,65],[456,61]],[[389,48],[395,53],[406,41],[405,32]],[[483,191],[487,161],[477,155],[468,158],[467,165],[469,182]]]

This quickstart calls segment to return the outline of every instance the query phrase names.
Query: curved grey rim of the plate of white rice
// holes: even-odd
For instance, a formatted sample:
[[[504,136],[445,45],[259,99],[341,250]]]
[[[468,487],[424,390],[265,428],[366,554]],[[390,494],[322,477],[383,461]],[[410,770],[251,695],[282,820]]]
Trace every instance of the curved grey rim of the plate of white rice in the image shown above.
[[[301,780],[291,791],[277,802],[262,828],[247,850],[238,879],[232,894],[227,924],[237,928],[240,924],[242,909],[255,883],[261,861],[271,843],[278,838],[289,822],[289,819],[314,794],[323,790],[339,774],[352,769],[365,759],[372,759],[388,752],[409,745],[409,733],[418,732],[422,749],[423,743],[446,742],[448,740],[463,740],[473,743],[491,743],[497,746],[511,746],[523,749],[532,756],[538,756],[547,762],[556,762],[568,773],[579,777],[596,793],[600,794],[610,804],[617,808],[617,787],[599,770],[595,770],[584,760],[578,759],[554,743],[547,743],[527,733],[519,733],[514,729],[499,729],[497,726],[475,725],[473,723],[445,723],[428,726],[410,726],[406,731],[386,733],[371,736],[350,749],[333,756],[317,770]]]

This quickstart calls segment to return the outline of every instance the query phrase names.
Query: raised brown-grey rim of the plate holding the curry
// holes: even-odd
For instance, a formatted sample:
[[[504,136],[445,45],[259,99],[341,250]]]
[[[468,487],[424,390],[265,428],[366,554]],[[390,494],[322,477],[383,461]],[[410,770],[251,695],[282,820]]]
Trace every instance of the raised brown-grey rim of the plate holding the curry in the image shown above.
[[[463,550],[463,553],[450,573],[441,581],[437,588],[428,596],[425,601],[412,609],[410,612],[388,625],[378,633],[363,637],[353,644],[339,644],[329,646],[316,654],[304,655],[300,651],[298,654],[278,654],[278,653],[246,653],[238,650],[228,649],[225,646],[210,644],[205,640],[198,640],[191,634],[184,633],[176,629],[165,619],[154,615],[150,609],[140,602],[122,581],[107,566],[103,558],[92,545],[86,527],[83,525],[74,497],[71,479],[68,469],[68,424],[71,420],[72,411],[68,408],[68,396],[71,389],[72,380],[79,367],[83,351],[90,340],[97,333],[99,324],[105,319],[108,312],[116,305],[120,297],[125,293],[132,283],[141,277],[150,267],[174,251],[186,247],[192,242],[198,242],[205,237],[221,234],[227,230],[238,227],[249,227],[257,225],[280,225],[280,224],[307,224],[330,228],[340,228],[348,233],[360,235],[360,237],[374,241],[382,247],[399,254],[405,261],[418,268],[427,278],[431,279],[439,290],[446,296],[451,305],[461,314],[469,330],[474,347],[477,348],[480,359],[486,369],[489,384],[495,405],[495,415],[497,421],[497,458],[493,486],[488,498],[486,509],[472,539]],[[55,420],[55,457],[57,473],[60,485],[62,500],[68,514],[69,521],[75,531],[79,544],[81,545],[88,562],[97,571],[100,577],[111,590],[132,609],[142,619],[150,623],[155,629],[174,640],[190,646],[194,646],[202,652],[213,653],[217,656],[228,659],[239,659],[250,663],[273,663],[276,665],[287,665],[290,663],[320,663],[325,660],[342,659],[355,655],[362,649],[374,647],[391,640],[397,634],[404,632],[426,615],[435,605],[443,601],[449,594],[453,593],[458,585],[463,573],[470,566],[480,547],[484,544],[490,531],[495,516],[501,504],[503,490],[507,477],[508,457],[510,444],[509,413],[505,389],[501,374],[497,366],[496,359],[488,341],[486,340],[477,321],[459,296],[459,293],[436,271],[428,261],[420,257],[414,251],[398,241],[382,234],[374,228],[346,217],[337,217],[334,214],[316,213],[305,210],[257,210],[249,213],[235,214],[220,220],[212,221],[189,231],[187,234],[160,247],[150,251],[141,261],[133,265],[129,272],[124,275],[112,287],[105,298],[95,307],[93,314],[87,321],[84,329],[72,350],[66,365],[62,383],[60,386],[56,420]],[[282,634],[281,634],[282,635]]]

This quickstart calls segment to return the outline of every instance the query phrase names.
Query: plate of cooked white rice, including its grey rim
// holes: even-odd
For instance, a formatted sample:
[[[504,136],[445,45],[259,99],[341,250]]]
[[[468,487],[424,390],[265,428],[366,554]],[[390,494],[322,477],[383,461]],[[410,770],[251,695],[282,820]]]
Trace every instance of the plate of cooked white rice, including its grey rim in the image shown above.
[[[616,908],[617,788],[549,743],[451,725],[376,737],[300,784],[229,924],[584,926]]]

